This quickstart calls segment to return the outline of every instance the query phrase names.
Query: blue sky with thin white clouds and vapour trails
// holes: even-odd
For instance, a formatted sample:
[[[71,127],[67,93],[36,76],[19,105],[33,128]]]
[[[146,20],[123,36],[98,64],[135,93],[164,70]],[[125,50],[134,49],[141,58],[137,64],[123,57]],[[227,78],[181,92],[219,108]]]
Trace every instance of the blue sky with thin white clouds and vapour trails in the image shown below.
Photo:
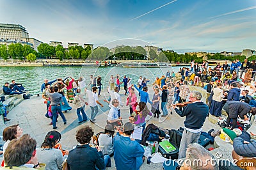
[[[94,48],[150,44],[178,53],[256,49],[255,0],[0,0],[0,9],[1,23],[20,24],[29,37],[64,47],[76,42]]]

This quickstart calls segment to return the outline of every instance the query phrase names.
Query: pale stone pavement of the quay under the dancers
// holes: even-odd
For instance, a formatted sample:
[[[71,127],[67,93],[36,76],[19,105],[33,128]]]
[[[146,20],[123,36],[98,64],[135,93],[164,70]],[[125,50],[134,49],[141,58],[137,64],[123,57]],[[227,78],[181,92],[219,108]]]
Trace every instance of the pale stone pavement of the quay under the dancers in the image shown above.
[[[152,87],[150,87],[149,90],[151,100],[153,94]],[[122,97],[122,102],[124,102],[125,104],[127,97],[125,97],[124,95],[124,90],[121,90],[120,94]],[[71,111],[67,111],[66,113],[64,113],[65,117],[67,118],[67,125],[63,125],[63,121],[61,120],[61,118],[58,118],[58,128],[56,130],[61,132],[62,136],[60,143],[62,144],[63,149],[70,150],[73,148],[73,146],[76,146],[76,130],[83,125],[90,125],[94,129],[94,134],[104,131],[109,111],[108,104],[106,102],[103,102],[103,99],[105,98],[108,98],[108,93],[106,93],[106,90],[104,90],[102,92],[102,96],[99,97],[99,100],[102,104],[104,104],[104,107],[100,108],[99,106],[99,114],[96,117],[97,123],[95,124],[91,123],[90,121],[86,121],[83,124],[78,124],[76,109],[72,109]],[[70,106],[72,106],[72,104],[70,104]],[[129,118],[129,108],[127,106],[120,108],[121,115],[125,123],[128,121]],[[85,111],[88,117],[90,117],[90,107],[86,106]],[[47,119],[44,116],[45,112],[46,107],[42,97],[33,96],[29,100],[22,101],[17,107],[13,108],[12,111],[10,111],[10,113],[8,114],[8,118],[10,118],[11,121],[6,122],[5,125],[10,126],[19,123],[20,127],[23,128],[23,134],[30,134],[31,137],[36,139],[37,146],[40,147],[40,145],[44,141],[44,137],[47,132],[52,130],[52,126],[49,125],[51,120]],[[158,127],[177,129],[179,127],[184,127],[184,119],[185,118],[180,118],[180,116],[175,111],[173,111],[173,114],[169,114],[169,116],[164,119],[161,117],[159,119],[151,118],[147,124],[154,123]],[[209,122],[207,118],[204,123],[203,130],[207,132],[211,128],[219,129],[220,127]]]

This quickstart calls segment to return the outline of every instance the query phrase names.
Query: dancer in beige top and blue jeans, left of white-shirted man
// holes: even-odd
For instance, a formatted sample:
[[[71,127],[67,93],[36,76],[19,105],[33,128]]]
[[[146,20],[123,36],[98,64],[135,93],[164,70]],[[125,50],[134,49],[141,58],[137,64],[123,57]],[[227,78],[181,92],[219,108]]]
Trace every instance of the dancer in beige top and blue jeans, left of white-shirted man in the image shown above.
[[[76,90],[76,97],[74,98],[74,107],[76,108],[76,114],[78,117],[78,123],[82,123],[87,120],[86,113],[84,112],[85,104],[88,104],[87,102],[84,102],[84,95],[81,94],[81,89]],[[82,112],[82,116],[80,114]]]

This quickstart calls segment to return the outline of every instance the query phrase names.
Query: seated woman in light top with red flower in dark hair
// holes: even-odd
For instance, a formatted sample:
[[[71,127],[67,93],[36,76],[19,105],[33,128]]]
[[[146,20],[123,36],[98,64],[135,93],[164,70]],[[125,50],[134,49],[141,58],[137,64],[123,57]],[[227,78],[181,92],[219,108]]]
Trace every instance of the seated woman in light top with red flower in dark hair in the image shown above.
[[[36,148],[38,162],[44,162],[46,164],[45,169],[62,169],[62,164],[64,162],[62,152],[61,150],[54,148],[54,146],[59,143],[60,139],[60,132],[52,130],[45,135],[41,148]],[[68,155],[68,151],[66,152],[66,155]]]

